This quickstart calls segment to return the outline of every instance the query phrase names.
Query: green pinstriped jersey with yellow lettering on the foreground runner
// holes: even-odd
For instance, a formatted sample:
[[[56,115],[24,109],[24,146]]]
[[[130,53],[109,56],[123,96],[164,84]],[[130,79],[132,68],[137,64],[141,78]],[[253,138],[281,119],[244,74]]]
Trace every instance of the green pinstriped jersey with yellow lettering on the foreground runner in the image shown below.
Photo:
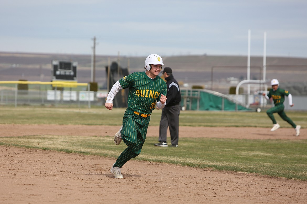
[[[134,72],[119,80],[122,88],[129,88],[128,109],[151,114],[161,94],[166,96],[166,83],[160,76],[151,79],[145,72]]]

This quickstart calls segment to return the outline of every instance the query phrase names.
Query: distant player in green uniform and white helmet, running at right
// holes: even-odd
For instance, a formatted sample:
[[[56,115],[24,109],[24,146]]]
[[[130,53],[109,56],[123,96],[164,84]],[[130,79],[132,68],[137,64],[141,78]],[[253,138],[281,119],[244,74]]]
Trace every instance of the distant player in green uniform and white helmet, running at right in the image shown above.
[[[285,101],[285,96],[288,96],[289,99],[289,105],[292,107],[294,104],[292,103],[292,95],[289,93],[289,91],[286,91],[284,89],[279,88],[279,82],[277,79],[271,80],[271,86],[272,89],[270,89],[269,94],[266,95],[263,93],[266,99],[273,98],[274,101],[274,107],[268,109],[266,113],[270,117],[270,119],[273,122],[273,128],[271,131],[277,130],[280,125],[276,122],[275,117],[273,113],[278,113],[278,115],[284,120],[287,121],[290,125],[292,125],[293,128],[295,128],[296,136],[300,135],[300,125],[296,125],[285,113],[284,109],[284,101]]]

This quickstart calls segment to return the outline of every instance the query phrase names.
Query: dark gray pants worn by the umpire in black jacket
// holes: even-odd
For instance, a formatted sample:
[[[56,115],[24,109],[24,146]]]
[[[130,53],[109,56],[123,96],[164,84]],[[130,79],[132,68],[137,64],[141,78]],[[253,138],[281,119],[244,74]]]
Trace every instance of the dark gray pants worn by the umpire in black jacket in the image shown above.
[[[181,105],[164,107],[162,109],[159,141],[166,142],[167,128],[169,127],[169,133],[171,135],[171,143],[178,144],[179,135],[179,114]]]

